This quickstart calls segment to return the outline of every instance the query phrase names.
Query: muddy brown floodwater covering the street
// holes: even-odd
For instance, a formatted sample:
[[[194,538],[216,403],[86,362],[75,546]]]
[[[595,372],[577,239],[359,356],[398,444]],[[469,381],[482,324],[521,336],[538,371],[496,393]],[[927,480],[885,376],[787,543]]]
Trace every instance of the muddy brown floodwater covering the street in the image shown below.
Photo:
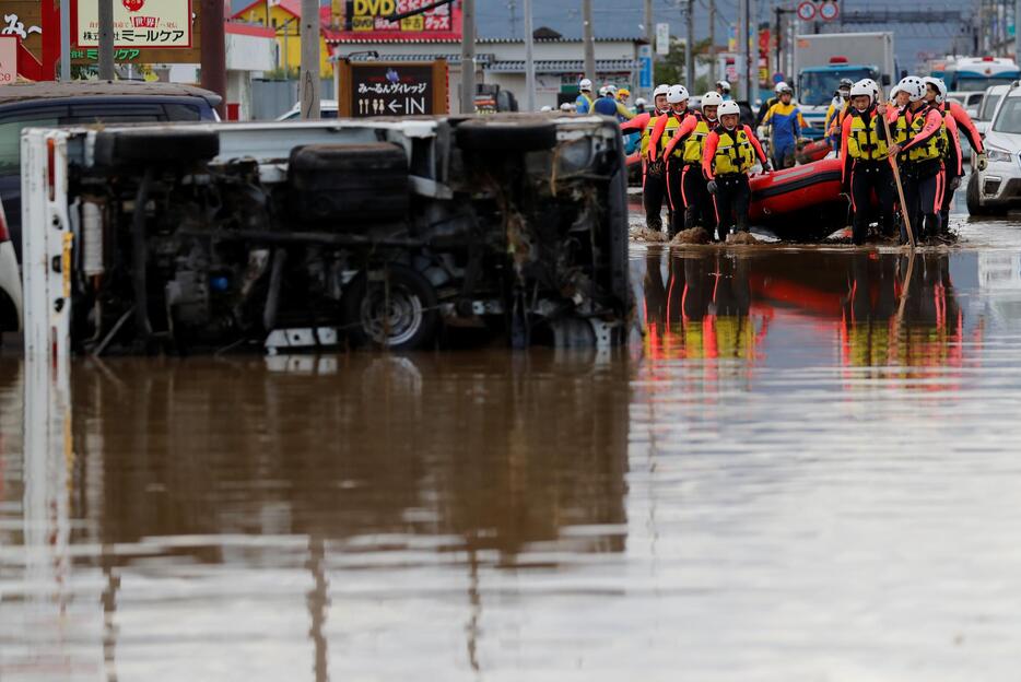
[[[57,454],[2,357],[0,680],[1013,680],[997,244],[636,246],[613,352],[78,360]]]

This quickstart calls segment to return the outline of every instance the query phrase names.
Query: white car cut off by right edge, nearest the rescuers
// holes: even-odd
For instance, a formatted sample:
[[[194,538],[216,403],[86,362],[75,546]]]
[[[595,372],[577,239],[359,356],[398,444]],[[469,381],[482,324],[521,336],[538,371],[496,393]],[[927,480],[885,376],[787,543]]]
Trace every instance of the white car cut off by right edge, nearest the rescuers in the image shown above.
[[[967,212],[995,215],[1021,208],[1021,86],[1006,92],[987,124],[985,170],[973,168],[967,179]]]

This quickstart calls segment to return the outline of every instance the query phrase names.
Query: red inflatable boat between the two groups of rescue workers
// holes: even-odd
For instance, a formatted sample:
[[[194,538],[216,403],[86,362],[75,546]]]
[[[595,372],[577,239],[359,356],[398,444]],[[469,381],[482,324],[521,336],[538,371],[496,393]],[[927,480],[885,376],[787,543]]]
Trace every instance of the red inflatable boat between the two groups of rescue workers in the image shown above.
[[[823,158],[751,178],[749,222],[785,238],[826,236],[844,225],[841,160]]]

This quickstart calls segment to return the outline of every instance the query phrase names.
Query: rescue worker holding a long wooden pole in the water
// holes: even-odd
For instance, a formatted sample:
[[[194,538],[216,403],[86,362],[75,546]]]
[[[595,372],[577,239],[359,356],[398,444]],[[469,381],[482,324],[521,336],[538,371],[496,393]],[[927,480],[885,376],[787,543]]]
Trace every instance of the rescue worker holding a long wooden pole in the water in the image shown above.
[[[907,106],[890,110],[894,144],[890,154],[897,156],[904,181],[902,210],[911,219],[918,240],[940,232],[939,211],[943,202],[943,156],[949,144],[943,114],[925,101],[922,79],[909,75],[897,87],[907,95]],[[935,89],[934,89],[935,90]],[[883,111],[880,110],[880,115]],[[907,243],[906,227],[901,230],[901,243]]]

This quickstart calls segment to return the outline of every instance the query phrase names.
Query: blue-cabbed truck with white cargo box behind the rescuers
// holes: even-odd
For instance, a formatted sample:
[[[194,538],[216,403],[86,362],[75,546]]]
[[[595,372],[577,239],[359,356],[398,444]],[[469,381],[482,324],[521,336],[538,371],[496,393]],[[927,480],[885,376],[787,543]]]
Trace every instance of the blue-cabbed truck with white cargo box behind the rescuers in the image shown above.
[[[794,69],[801,115],[812,127],[806,137],[824,136],[823,122],[842,79],[870,78],[889,85],[896,77],[893,34],[823,33],[795,39]]]

